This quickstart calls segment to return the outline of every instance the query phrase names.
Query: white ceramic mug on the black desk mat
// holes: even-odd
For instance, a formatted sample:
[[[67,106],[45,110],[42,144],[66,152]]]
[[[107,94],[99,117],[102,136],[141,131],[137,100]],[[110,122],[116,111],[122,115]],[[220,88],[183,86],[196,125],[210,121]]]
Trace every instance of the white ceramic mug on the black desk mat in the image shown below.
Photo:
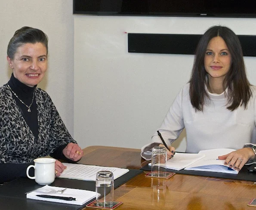
[[[27,176],[33,179],[38,184],[50,184],[54,182],[55,179],[55,162],[56,159],[53,158],[37,158],[34,159],[35,165],[30,165],[27,168]],[[30,168],[35,169],[35,176],[31,177],[28,174]]]

